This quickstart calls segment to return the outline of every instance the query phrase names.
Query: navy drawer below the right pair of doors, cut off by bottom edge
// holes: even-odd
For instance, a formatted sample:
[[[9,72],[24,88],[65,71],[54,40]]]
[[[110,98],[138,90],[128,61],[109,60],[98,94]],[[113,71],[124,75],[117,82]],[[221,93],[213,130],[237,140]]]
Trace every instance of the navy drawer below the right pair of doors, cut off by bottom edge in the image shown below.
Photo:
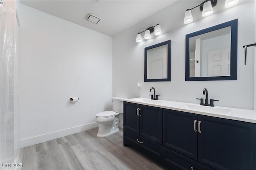
[[[164,164],[171,170],[213,170],[182,154],[164,147]]]

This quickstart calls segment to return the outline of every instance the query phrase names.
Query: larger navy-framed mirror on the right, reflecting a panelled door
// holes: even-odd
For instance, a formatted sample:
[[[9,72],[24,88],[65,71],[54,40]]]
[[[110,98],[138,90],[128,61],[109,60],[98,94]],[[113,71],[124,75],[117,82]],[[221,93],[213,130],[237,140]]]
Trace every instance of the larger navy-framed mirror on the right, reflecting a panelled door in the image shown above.
[[[185,81],[237,80],[237,24],[236,19],[186,35]]]

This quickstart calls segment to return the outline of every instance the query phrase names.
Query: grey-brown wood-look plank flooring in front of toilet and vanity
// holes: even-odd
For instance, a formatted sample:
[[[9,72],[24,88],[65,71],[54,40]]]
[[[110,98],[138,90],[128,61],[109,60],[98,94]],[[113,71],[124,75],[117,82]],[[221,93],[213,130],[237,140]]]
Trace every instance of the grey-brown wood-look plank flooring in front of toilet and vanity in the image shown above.
[[[20,149],[22,170],[162,170],[162,166],[123,146],[123,130],[105,138],[93,128]]]

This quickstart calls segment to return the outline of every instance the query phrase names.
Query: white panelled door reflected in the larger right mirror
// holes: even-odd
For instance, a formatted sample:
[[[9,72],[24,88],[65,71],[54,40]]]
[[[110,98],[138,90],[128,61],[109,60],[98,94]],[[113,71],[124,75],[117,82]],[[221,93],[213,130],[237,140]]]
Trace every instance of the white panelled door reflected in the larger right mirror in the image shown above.
[[[230,75],[230,48],[208,52],[208,76]]]

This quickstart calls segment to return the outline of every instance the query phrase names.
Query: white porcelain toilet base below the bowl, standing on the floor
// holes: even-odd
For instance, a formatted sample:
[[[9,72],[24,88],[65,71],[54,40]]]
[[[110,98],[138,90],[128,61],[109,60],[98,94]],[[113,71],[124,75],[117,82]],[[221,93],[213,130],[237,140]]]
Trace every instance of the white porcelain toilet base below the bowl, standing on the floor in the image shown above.
[[[113,123],[99,123],[97,137],[106,137],[118,132],[118,123],[119,119],[117,117],[115,117]]]

